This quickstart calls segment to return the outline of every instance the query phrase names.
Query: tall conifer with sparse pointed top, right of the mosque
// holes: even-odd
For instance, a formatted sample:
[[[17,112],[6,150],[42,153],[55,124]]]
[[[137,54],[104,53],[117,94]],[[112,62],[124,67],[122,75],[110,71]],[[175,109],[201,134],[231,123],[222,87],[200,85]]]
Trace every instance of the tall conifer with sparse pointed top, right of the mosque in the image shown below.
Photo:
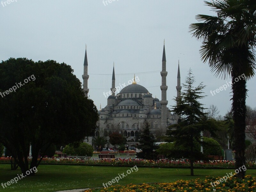
[[[189,146],[189,150],[186,151],[187,157],[190,160],[190,174],[194,175],[193,163],[196,158],[200,158],[202,154],[195,150],[195,142],[201,143],[200,132],[208,131],[211,135],[215,135],[216,130],[216,120],[206,118],[206,113],[203,112],[205,109],[203,104],[198,100],[203,99],[202,90],[205,85],[200,83],[197,87],[193,87],[195,83],[195,78],[192,74],[191,69],[188,71],[188,77],[186,77],[184,92],[181,93],[180,98],[177,99],[177,105],[173,106],[173,112],[181,116],[181,121],[178,124],[173,124],[169,126],[167,135],[169,135],[171,140],[176,141],[176,145]],[[175,100],[176,100],[175,99]],[[202,156],[203,157],[203,156]]]

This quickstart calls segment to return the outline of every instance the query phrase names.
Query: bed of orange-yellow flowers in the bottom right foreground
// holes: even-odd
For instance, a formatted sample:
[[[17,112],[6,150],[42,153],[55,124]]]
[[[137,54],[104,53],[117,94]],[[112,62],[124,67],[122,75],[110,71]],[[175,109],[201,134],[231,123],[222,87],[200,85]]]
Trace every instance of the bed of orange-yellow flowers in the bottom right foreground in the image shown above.
[[[98,188],[89,189],[85,192],[145,192],[145,191],[161,191],[161,192],[238,192],[238,191],[252,191],[256,192],[256,178],[251,175],[245,176],[244,179],[239,179],[236,177],[229,178],[226,182],[220,183],[215,188],[212,187],[211,182],[219,180],[220,178],[206,177],[205,180],[195,179],[195,180],[177,180],[172,183],[154,183],[141,185],[114,185],[108,188]]]

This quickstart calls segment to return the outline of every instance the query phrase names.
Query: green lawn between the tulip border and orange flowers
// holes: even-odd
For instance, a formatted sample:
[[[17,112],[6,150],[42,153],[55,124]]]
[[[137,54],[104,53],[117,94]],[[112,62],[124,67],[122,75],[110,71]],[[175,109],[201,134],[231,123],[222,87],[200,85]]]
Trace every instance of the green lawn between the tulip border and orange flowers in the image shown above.
[[[11,171],[10,164],[0,164],[0,184],[10,181],[20,170]],[[38,192],[58,191],[77,188],[102,187],[102,183],[114,179],[131,167],[100,167],[100,166],[75,166],[75,165],[39,165],[36,176],[26,177],[17,183],[3,188],[3,192]],[[207,175],[215,177],[225,176],[226,173],[234,172],[231,169],[195,169],[196,176],[191,177],[190,169],[168,169],[168,168],[140,168],[137,172],[128,174],[120,179],[118,184],[138,184],[152,182],[171,182],[175,180],[188,180],[204,178]],[[256,170],[247,170],[247,174],[256,177]],[[115,183],[116,184],[116,183]]]

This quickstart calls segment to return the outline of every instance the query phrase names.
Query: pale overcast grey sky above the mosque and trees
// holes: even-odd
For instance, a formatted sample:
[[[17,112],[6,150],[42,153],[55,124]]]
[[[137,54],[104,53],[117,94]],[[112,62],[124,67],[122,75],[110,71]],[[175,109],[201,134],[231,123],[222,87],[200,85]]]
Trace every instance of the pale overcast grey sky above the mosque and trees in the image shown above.
[[[111,87],[113,61],[116,86],[137,74],[142,86],[161,100],[163,42],[167,60],[168,107],[174,105],[177,68],[181,82],[189,68],[196,84],[204,82],[205,107],[216,105],[221,115],[231,106],[231,89],[212,96],[210,91],[230,79],[218,79],[200,59],[198,42],[188,33],[196,14],[210,14],[203,0],[14,0],[0,4],[0,60],[26,57],[34,61],[56,60],[74,69],[82,82],[85,44],[88,56],[89,95],[97,108],[106,106],[103,92]],[[152,73],[143,73],[155,71]],[[106,74],[106,75],[94,75]],[[247,83],[247,105],[255,107],[256,78]],[[183,90],[183,89],[182,89]]]

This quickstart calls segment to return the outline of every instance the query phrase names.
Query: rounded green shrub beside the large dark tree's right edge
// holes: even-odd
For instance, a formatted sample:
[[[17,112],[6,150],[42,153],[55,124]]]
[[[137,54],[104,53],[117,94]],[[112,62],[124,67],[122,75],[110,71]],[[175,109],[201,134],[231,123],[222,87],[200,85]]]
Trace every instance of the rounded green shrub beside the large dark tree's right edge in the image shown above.
[[[63,153],[71,156],[92,156],[93,148],[87,143],[79,143],[77,146],[69,144],[63,149]]]

